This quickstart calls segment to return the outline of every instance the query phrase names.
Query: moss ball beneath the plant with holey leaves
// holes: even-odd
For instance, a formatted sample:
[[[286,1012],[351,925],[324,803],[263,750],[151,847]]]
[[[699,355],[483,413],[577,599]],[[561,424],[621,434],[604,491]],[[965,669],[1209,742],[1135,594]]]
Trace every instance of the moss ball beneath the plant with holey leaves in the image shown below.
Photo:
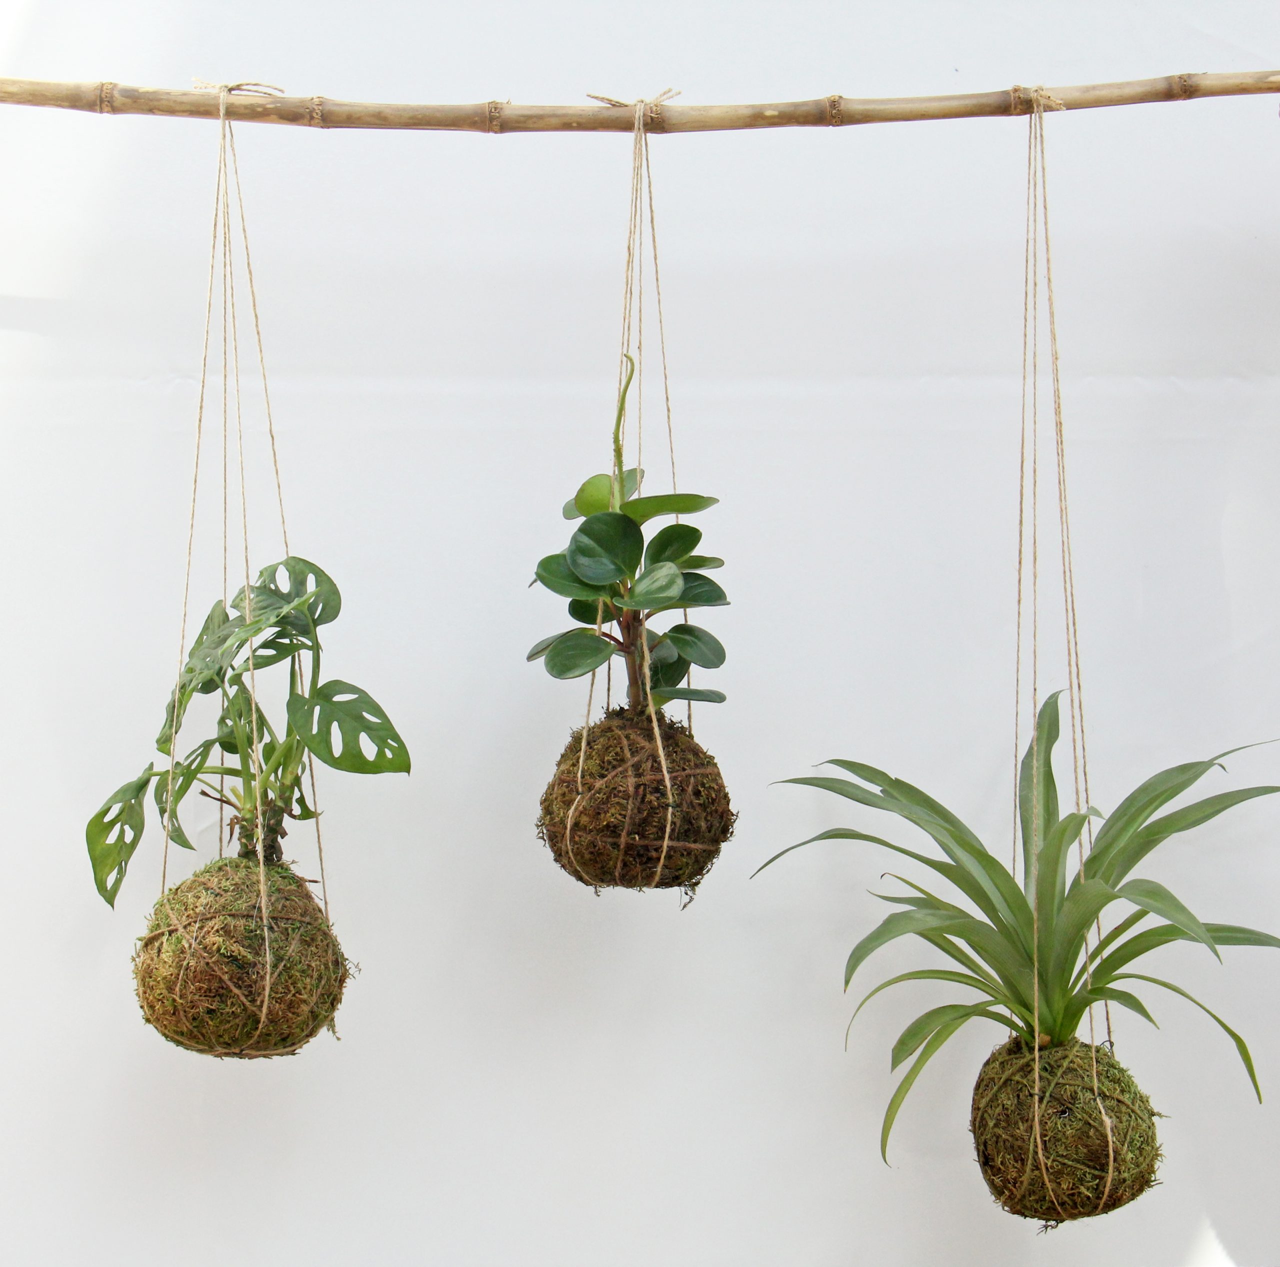
[[[266,893],[269,992],[256,859],[210,863],[156,902],[133,976],[143,1017],[170,1043],[207,1056],[289,1056],[332,1023],[348,966],[324,911],[284,864],[266,868]]]

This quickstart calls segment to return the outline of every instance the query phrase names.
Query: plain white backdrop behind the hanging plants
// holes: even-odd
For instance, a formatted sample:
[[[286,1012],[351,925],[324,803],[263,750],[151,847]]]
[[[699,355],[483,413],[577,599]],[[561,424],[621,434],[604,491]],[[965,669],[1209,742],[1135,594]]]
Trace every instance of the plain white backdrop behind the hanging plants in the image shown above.
[[[9,0],[0,51],[12,76],[352,100],[767,101],[1276,67],[1280,13]],[[1280,733],[1280,125],[1256,97],[1048,133],[1107,809],[1164,765]],[[844,1052],[841,969],[881,918],[883,861],[815,846],[749,879],[822,827],[873,825],[769,786],[836,755],[1005,840],[1020,120],[653,142],[682,482],[722,498],[704,527],[733,599],[707,621],[730,703],[699,736],[741,819],[684,912],[594,897],[532,831],[585,689],[524,663],[562,618],[525,586],[608,461],[626,138],[241,129],[294,548],[346,599],[326,665],[387,705],[415,769],[324,778],[362,966],[340,1043],[215,1062],[141,1024],[154,820],[114,912],[83,823],[147,760],[172,680],[215,145],[200,122],[0,111],[6,1261],[1280,1261],[1271,952],[1225,970],[1161,952],[1244,1030],[1268,1102],[1189,1005],[1153,1000],[1160,1032],[1125,1014],[1121,1058],[1169,1115],[1164,1185],[1037,1236],[972,1159],[993,1030],[931,1066],[879,1159],[890,1044],[946,997],[878,1000]],[[1276,781],[1277,753],[1233,758],[1212,790]],[[1275,929],[1277,814],[1247,805],[1149,873],[1206,918]],[[878,971],[923,962],[896,943]]]

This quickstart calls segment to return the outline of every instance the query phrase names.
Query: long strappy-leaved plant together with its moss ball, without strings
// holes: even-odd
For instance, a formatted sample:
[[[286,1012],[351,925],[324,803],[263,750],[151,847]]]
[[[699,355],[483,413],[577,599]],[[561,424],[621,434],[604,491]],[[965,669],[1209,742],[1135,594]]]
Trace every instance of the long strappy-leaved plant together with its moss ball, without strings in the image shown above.
[[[902,982],[948,982],[979,994],[977,1002],[929,1008],[893,1044],[893,1069],[915,1058],[890,1099],[881,1152],[887,1157],[890,1131],[924,1066],[970,1020],[995,1021],[1010,1037],[983,1065],[974,1088],[970,1121],[978,1165],[991,1194],[1009,1213],[1050,1225],[1128,1204],[1155,1183],[1160,1161],[1157,1115],[1146,1094],[1106,1046],[1076,1037],[1091,1007],[1115,1003],[1155,1024],[1129,983],[1180,994],[1226,1032],[1261,1101],[1244,1039],[1180,985],[1135,973],[1132,965],[1175,941],[1198,942],[1217,959],[1222,946],[1280,947],[1280,938],[1270,933],[1202,923],[1164,884],[1132,878],[1138,864],[1171,836],[1242,801],[1280,792],[1280,787],[1220,792],[1156,818],[1229,754],[1161,770],[1102,822],[1092,852],[1069,883],[1071,851],[1085,823],[1102,815],[1092,808],[1059,814],[1052,770],[1057,736],[1057,696],[1051,695],[1039,712],[1036,736],[1021,764],[1021,884],[955,814],[910,783],[859,761],[827,763],[852,779],[806,777],[786,782],[819,787],[897,814],[932,837],[945,860],[837,827],[792,845],[764,864],[814,841],[861,841],[928,866],[954,886],[959,901],[975,909],[970,914],[965,906],[893,877],[908,892],[877,896],[906,909],[890,915],[849,956],[846,989],[864,960],[905,936],[919,937],[961,969],[922,969],[892,976],[870,991],[858,1011],[881,991]],[[1091,946],[1094,921],[1114,902],[1132,909]],[[1161,923],[1133,932],[1149,916]]]

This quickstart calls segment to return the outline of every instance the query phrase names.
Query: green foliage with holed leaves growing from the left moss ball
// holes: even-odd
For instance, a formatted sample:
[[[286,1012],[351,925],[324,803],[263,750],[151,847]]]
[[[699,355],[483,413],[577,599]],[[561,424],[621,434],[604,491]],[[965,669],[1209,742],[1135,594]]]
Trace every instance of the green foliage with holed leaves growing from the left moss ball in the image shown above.
[[[264,861],[278,863],[284,819],[315,817],[302,791],[308,756],[352,774],[408,773],[408,750],[387,713],[358,686],[320,681],[319,630],[342,610],[342,595],[328,575],[291,555],[264,568],[230,605],[236,614],[221,600],[214,604],[169,697],[156,738],[166,760],[159,769],[150,763],[88,822],[93,881],[113,906],[142,838],[152,783],[160,822],[175,845],[195,847],[178,808],[198,787],[233,811],[242,857],[257,857],[261,847]],[[289,694],[285,724],[276,731],[251,680],[282,663],[288,664]],[[172,761],[170,772],[188,705],[196,695],[215,694],[221,703],[216,733]]]

